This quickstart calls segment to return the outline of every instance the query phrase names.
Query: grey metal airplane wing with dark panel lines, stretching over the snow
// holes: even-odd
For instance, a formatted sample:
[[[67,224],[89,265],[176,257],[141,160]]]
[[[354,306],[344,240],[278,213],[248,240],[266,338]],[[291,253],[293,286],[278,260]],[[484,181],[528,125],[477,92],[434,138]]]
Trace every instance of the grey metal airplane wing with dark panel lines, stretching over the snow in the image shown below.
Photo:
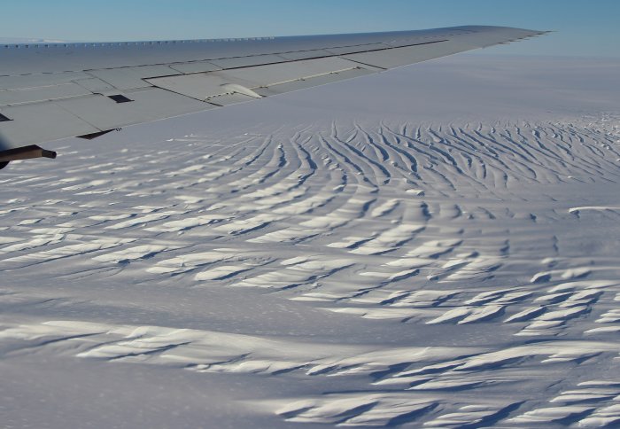
[[[379,73],[546,32],[449,27],[355,35],[0,44],[0,168],[38,146]]]

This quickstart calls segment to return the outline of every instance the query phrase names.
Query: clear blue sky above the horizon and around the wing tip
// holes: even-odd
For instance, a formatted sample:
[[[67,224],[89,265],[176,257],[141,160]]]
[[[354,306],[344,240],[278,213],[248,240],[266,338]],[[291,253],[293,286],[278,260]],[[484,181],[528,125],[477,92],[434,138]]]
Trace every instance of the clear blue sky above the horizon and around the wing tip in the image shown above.
[[[306,35],[466,24],[551,29],[496,53],[620,57],[620,0],[20,0],[0,37],[118,41]]]

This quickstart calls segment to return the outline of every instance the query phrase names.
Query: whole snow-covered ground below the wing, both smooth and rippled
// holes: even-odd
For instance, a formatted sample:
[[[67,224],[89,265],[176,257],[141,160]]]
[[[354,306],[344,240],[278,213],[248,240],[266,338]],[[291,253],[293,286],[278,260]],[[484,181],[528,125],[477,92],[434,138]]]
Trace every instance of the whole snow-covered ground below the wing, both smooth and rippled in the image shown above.
[[[618,72],[464,55],[13,163],[1,425],[620,424]]]

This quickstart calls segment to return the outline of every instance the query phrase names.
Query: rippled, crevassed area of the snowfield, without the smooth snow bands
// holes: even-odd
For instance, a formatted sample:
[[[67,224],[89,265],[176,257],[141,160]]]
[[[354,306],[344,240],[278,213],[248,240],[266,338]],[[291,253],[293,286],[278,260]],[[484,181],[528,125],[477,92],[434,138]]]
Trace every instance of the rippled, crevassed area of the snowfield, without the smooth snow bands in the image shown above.
[[[16,353],[53,344],[198,373],[342,380],[329,394],[257,399],[290,422],[614,425],[615,381],[558,383],[594,363],[616,368],[617,253],[576,255],[553,225],[617,222],[617,204],[572,205],[566,191],[617,185],[616,139],[566,123],[334,123],[138,145],[113,165],[75,160],[54,180],[16,164],[2,179],[24,190],[0,210],[6,273],[252,288],[374,320],[388,336],[408,324],[420,339],[334,346],[57,321],[3,324],[0,341]]]

